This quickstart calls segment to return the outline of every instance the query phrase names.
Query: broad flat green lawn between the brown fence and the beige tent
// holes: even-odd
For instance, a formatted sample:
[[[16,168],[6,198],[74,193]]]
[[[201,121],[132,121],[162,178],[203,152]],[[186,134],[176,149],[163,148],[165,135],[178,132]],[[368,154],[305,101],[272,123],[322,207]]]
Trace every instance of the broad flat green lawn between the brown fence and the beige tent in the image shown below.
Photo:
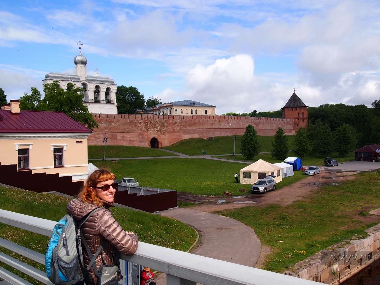
[[[117,179],[124,176],[139,179],[140,186],[173,189],[195,195],[222,195],[238,189],[250,189],[250,184],[236,184],[234,174],[247,166],[244,163],[209,160],[204,158],[165,158],[144,160],[95,161],[98,168],[107,168]],[[298,177],[298,176],[295,176]],[[287,180],[295,177],[285,177]],[[302,179],[303,176],[299,176]],[[297,178],[297,179],[298,179]]]

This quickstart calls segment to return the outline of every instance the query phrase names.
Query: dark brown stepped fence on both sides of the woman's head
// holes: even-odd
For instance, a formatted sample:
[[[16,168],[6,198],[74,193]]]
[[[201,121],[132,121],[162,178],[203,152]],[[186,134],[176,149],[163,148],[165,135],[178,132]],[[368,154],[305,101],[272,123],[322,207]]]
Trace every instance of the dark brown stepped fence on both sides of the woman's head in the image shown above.
[[[37,193],[56,191],[70,196],[77,196],[83,186],[82,181],[72,182],[71,176],[17,171],[16,165],[0,165],[0,183]],[[142,211],[155,212],[177,207],[177,191],[140,196],[120,191],[116,192],[115,201]]]

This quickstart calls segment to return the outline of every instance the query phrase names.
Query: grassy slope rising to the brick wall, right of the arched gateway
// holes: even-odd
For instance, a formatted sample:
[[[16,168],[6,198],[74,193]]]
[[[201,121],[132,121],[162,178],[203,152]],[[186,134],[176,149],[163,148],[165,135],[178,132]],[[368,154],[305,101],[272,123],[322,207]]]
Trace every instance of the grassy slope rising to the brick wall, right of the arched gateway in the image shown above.
[[[267,152],[272,150],[273,136],[258,136],[261,142],[260,152]],[[236,136],[235,152],[241,152],[242,135]],[[293,146],[294,136],[288,136],[289,147]],[[163,147],[163,149],[173,150],[187,155],[201,155],[202,150],[206,154],[232,154],[234,151],[234,136],[215,136],[209,139],[195,138],[184,139],[176,142],[171,146]]]

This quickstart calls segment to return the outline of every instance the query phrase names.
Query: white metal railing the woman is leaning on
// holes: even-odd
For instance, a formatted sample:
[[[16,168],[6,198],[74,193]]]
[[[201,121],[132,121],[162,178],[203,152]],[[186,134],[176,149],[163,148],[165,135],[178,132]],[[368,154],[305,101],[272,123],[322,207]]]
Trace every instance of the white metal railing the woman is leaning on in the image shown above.
[[[0,209],[0,222],[15,226],[44,236],[51,236],[57,222],[36,218],[24,214]],[[22,247],[5,239],[0,239],[0,246],[19,253],[38,263],[45,264],[45,256],[41,253]],[[221,250],[223,248],[221,247]],[[247,252],[247,254],[250,254]],[[216,260],[194,255],[179,250],[168,249],[158,245],[139,242],[134,255],[121,256],[122,260],[154,268],[166,273],[168,285],[312,285],[319,284],[310,280],[300,279],[271,271],[265,271],[249,266]],[[13,266],[46,285],[52,285],[45,272],[0,253],[0,261]],[[30,285],[29,282],[0,267],[0,276],[14,285]]]

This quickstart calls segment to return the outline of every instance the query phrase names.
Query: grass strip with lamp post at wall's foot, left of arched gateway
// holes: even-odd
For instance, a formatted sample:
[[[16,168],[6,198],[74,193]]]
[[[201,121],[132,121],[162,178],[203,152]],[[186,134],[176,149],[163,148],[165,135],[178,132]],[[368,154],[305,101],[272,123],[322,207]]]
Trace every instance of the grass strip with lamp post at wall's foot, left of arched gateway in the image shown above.
[[[103,158],[104,146],[88,146],[88,158]],[[176,156],[159,149],[139,146],[106,146],[106,158]]]

